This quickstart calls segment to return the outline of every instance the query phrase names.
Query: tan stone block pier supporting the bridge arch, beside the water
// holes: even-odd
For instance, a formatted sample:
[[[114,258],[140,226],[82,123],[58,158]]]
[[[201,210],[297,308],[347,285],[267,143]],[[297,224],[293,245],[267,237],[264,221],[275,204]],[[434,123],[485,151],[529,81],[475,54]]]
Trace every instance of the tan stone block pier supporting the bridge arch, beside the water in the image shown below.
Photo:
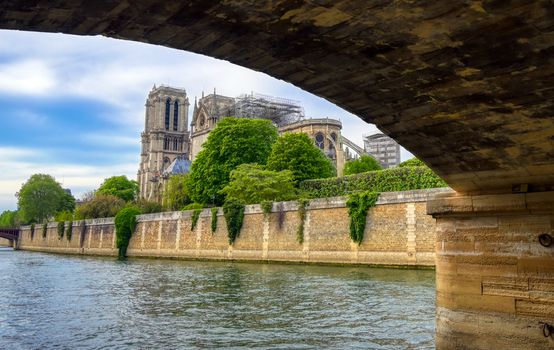
[[[427,210],[437,349],[554,348],[543,334],[554,325],[554,192],[447,195]]]

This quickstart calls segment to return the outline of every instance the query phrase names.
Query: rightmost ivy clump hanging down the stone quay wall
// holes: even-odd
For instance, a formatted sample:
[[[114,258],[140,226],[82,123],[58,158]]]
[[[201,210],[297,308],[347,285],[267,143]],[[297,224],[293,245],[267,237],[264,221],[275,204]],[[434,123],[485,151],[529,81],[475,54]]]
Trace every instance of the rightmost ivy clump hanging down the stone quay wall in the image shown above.
[[[346,206],[350,217],[350,238],[360,245],[364,240],[367,212],[375,206],[379,193],[367,191],[352,193],[349,197]]]

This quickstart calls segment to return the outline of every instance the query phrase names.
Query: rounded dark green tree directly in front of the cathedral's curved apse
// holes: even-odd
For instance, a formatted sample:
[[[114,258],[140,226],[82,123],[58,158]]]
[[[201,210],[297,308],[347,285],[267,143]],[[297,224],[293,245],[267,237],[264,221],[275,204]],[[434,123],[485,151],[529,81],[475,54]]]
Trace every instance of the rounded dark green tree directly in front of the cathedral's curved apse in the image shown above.
[[[285,133],[277,139],[267,160],[267,169],[292,171],[295,182],[335,175],[331,161],[305,133]]]

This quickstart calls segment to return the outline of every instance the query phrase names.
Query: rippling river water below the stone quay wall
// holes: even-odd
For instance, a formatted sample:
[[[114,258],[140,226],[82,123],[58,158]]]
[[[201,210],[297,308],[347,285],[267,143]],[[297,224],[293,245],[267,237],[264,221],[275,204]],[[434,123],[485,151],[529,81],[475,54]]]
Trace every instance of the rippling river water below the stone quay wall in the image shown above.
[[[0,349],[433,349],[434,271],[0,248]]]

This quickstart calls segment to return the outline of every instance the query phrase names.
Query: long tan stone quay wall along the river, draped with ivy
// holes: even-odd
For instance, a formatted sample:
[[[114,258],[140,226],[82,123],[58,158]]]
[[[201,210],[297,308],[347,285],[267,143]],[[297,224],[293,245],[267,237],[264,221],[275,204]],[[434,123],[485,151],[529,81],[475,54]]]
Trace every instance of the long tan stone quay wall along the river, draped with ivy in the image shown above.
[[[304,241],[297,241],[298,203],[273,204],[271,214],[260,205],[245,208],[244,224],[229,245],[223,211],[211,231],[211,210],[202,210],[191,229],[192,211],[138,216],[127,255],[181,259],[284,261],[398,266],[435,265],[435,219],[426,214],[426,201],[450,189],[388,192],[379,196],[367,215],[362,244],[349,237],[346,197],[311,200],[304,221]],[[41,252],[117,255],[113,218],[75,221],[72,237],[58,238],[57,223],[46,235],[36,225],[22,229],[19,249]]]

